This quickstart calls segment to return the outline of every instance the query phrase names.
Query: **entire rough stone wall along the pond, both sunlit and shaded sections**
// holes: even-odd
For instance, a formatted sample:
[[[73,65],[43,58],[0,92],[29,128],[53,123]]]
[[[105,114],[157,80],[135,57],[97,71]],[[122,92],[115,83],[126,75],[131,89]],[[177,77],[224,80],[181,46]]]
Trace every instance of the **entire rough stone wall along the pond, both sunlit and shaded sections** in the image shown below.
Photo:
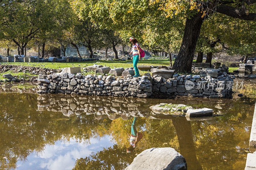
[[[204,76],[174,74],[168,80],[158,75],[118,78],[111,75],[84,77],[81,73],[39,74],[38,93],[147,98],[153,92],[161,92],[170,96],[229,98],[234,77],[220,70],[215,71],[204,73]]]

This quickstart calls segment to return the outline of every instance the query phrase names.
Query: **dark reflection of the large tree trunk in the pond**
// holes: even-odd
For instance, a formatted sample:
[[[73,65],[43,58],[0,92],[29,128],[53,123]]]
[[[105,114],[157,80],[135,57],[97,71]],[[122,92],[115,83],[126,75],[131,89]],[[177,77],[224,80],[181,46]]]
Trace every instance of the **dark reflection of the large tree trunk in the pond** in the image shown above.
[[[175,117],[172,119],[172,124],[177,133],[180,154],[186,159],[188,169],[203,169],[196,158],[196,148],[190,122],[185,117]]]

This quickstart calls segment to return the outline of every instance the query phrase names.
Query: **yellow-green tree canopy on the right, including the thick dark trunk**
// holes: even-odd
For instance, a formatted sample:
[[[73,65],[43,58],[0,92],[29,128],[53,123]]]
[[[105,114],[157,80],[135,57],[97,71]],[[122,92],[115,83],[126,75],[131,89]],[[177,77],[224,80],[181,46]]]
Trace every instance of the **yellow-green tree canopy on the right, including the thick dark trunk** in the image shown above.
[[[229,53],[253,55],[255,50],[255,0],[74,0],[74,11],[84,11],[94,23],[131,35],[149,48],[178,53],[173,69],[190,72],[194,54],[229,49]],[[89,6],[89,8],[88,8]],[[93,7],[92,7],[93,6]],[[104,21],[104,22],[102,22]]]

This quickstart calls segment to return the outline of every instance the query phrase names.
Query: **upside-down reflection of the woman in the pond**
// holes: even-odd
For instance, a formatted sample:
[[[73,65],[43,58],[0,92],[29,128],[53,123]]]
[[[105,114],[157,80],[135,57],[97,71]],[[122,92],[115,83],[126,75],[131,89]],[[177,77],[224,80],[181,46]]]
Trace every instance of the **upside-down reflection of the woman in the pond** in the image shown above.
[[[136,130],[137,118],[138,117],[134,117],[134,119],[133,119],[132,127],[131,127],[131,135],[129,135],[129,133],[127,133],[128,137],[129,137],[129,141],[130,141],[130,145],[126,150],[127,153],[132,152],[136,148],[140,139],[142,138],[142,134],[140,132],[137,132],[137,130]]]

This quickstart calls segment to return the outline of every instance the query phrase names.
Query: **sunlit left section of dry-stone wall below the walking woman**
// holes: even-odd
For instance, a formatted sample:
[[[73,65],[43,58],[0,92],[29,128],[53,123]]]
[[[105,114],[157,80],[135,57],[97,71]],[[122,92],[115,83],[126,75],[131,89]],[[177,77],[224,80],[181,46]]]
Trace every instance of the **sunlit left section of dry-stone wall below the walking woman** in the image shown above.
[[[84,77],[81,73],[38,75],[38,93],[149,97],[152,92],[151,85],[148,76],[122,79],[110,75]]]

